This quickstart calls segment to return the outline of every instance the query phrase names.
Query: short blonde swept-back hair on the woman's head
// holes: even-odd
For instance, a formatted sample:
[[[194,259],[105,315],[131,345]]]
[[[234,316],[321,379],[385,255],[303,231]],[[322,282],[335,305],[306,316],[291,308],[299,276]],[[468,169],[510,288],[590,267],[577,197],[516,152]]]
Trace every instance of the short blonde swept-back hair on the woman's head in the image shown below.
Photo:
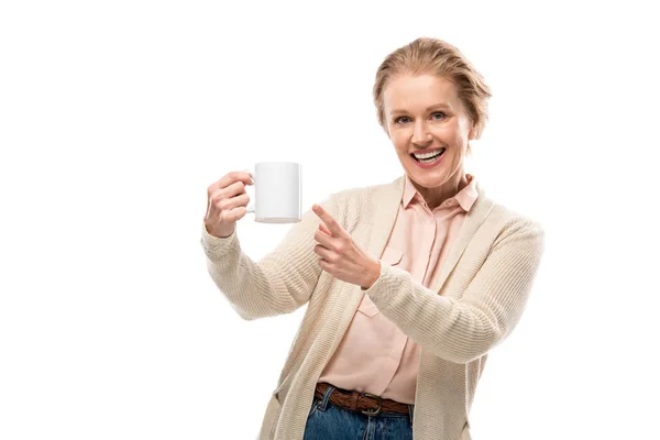
[[[376,72],[373,88],[378,123],[387,133],[383,91],[387,81],[398,75],[437,75],[453,82],[468,117],[474,123],[474,139],[480,139],[488,120],[491,88],[483,76],[455,46],[438,38],[419,37],[392,52]],[[468,143],[468,154],[471,154]]]

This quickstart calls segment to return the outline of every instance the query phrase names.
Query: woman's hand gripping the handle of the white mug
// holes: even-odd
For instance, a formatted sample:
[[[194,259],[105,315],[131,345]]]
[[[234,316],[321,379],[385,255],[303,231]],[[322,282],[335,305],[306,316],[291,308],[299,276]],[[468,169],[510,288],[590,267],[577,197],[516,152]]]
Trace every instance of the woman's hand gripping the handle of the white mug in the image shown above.
[[[209,186],[207,212],[204,223],[207,232],[217,238],[228,238],[237,228],[237,221],[248,212],[250,196],[245,185],[254,185],[248,172],[230,172]]]

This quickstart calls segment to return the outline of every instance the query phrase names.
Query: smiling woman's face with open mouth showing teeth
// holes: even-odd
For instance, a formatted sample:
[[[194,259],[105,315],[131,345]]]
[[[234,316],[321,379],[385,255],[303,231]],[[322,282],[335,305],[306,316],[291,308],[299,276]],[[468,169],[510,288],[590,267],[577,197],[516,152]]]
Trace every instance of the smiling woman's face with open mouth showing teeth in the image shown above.
[[[425,188],[455,191],[473,132],[454,85],[435,75],[393,77],[383,100],[389,139],[410,179]],[[433,158],[413,155],[441,148]]]

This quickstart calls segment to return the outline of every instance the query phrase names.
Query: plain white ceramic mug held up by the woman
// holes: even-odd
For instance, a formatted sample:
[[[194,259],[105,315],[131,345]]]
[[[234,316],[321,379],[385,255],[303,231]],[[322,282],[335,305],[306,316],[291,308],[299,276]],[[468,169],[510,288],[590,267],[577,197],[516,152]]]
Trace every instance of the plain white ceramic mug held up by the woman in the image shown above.
[[[254,202],[248,212],[260,223],[297,223],[301,219],[300,164],[295,162],[260,162],[248,169],[254,179]],[[246,190],[250,186],[245,187]]]

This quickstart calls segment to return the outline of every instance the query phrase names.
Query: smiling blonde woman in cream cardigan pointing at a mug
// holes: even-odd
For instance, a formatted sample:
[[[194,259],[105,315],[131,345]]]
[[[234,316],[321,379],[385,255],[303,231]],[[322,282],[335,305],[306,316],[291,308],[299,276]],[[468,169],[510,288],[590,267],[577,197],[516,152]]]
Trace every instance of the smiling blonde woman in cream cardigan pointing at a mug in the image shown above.
[[[487,353],[531,290],[542,228],[463,168],[487,119],[482,76],[418,38],[385,58],[373,92],[405,174],[315,205],[258,262],[235,233],[250,175],[208,188],[201,244],[240,316],[308,304],[260,439],[470,439]]]

